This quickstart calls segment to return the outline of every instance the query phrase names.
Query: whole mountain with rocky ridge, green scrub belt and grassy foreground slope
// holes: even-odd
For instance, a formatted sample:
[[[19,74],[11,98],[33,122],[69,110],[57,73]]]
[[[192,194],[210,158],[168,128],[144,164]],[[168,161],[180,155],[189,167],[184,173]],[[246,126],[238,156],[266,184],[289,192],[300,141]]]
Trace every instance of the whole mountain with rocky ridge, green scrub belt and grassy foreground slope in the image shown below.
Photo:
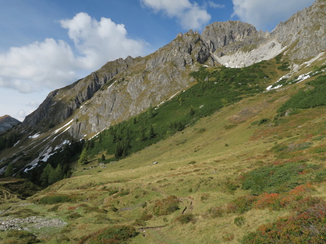
[[[271,33],[214,22],[51,92],[0,137],[0,239],[324,243],[325,6]]]

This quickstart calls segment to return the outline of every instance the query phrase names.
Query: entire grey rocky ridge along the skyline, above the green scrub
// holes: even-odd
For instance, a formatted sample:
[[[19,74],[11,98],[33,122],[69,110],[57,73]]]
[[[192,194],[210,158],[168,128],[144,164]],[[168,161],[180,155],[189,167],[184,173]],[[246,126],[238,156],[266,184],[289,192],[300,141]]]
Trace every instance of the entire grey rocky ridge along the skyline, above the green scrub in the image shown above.
[[[273,32],[240,21],[214,22],[200,35],[179,33],[145,57],[119,58],[64,88],[51,92],[21,123],[21,131],[46,130],[72,116],[74,138],[94,134],[170,99],[191,85],[189,73],[203,64],[249,66],[284,52],[291,59],[326,49],[325,0],[280,23]]]

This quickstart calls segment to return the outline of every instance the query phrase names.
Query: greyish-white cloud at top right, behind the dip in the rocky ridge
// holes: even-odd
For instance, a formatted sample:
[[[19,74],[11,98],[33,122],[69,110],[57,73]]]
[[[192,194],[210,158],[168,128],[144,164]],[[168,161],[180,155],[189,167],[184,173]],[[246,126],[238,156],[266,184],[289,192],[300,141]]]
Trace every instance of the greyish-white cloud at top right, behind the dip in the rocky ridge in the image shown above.
[[[280,21],[287,20],[296,11],[313,4],[315,0],[232,0],[233,16],[249,22],[257,29],[275,27]],[[272,28],[273,28],[272,27]]]

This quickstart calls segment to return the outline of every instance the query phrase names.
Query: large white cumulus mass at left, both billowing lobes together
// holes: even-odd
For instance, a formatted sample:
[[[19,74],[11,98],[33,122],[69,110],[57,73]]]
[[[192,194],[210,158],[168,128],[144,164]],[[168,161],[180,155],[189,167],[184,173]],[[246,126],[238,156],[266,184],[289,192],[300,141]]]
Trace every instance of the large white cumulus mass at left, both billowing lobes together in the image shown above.
[[[62,87],[109,60],[142,55],[146,45],[144,41],[129,39],[124,25],[109,18],[97,21],[87,13],[78,13],[60,23],[68,29],[74,47],[48,38],[0,53],[0,87],[21,93]]]

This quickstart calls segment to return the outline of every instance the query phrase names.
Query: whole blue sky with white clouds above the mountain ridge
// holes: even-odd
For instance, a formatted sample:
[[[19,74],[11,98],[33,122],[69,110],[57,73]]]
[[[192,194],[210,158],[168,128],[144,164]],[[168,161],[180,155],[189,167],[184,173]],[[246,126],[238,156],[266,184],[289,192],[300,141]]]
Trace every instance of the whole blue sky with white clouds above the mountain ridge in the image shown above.
[[[241,20],[272,31],[314,0],[0,0],[0,116],[22,121],[49,92],[189,29]]]

